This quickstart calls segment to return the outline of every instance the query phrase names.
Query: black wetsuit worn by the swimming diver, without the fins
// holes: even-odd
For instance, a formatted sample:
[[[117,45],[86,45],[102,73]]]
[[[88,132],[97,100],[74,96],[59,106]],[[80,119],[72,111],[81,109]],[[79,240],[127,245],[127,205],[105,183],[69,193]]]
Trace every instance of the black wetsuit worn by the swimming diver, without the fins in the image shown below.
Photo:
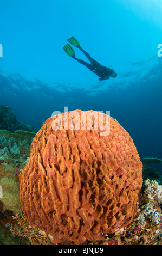
[[[109,79],[109,76],[112,74],[114,70],[107,68],[106,66],[102,66],[99,62],[96,62],[93,58],[90,57],[89,53],[84,51],[81,46],[77,46],[84,54],[85,56],[89,59],[90,64],[85,62],[82,59],[78,59],[76,57],[73,57],[74,59],[77,60],[77,62],[85,65],[88,69],[90,69],[93,73],[95,73],[97,76],[99,76],[99,80],[105,80]]]

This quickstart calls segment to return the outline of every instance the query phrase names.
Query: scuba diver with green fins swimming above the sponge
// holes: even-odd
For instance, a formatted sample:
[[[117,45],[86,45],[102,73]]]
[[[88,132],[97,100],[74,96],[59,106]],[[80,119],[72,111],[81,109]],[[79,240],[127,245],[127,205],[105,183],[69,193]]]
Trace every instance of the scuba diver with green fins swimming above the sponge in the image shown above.
[[[106,66],[102,66],[100,63],[96,62],[96,60],[91,58],[89,53],[87,53],[86,51],[84,51],[82,49],[82,47],[80,46],[79,41],[77,41],[77,39],[74,38],[74,36],[67,39],[67,41],[70,42],[70,44],[74,45],[75,47],[79,48],[85,54],[85,56],[88,58],[90,63],[87,63],[82,59],[76,58],[75,57],[75,51],[74,51],[73,47],[70,44],[64,45],[63,50],[68,54],[68,56],[77,60],[77,62],[85,65],[88,69],[90,69],[90,71],[92,71],[97,76],[99,76],[100,81],[107,80],[107,79],[109,79],[110,76],[114,77],[114,78],[117,76],[117,74],[114,72],[113,69],[107,68]]]

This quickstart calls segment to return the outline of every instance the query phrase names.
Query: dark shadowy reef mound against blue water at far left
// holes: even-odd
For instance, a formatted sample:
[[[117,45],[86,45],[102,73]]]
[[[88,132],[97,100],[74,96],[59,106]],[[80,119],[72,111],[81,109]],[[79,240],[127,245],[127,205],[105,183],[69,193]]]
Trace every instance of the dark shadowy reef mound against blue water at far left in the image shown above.
[[[7,105],[0,106],[0,129],[14,132],[15,130],[35,132],[34,128],[17,121],[11,107]]]

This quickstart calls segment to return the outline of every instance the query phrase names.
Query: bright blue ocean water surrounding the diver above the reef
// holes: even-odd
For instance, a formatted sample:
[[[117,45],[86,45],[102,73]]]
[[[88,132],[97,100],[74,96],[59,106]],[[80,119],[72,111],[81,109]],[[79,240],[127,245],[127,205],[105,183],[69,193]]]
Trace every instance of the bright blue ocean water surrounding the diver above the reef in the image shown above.
[[[2,1],[0,105],[36,130],[64,106],[110,111],[140,157],[162,158],[161,17],[161,0]],[[99,81],[68,57],[70,36],[118,76]]]

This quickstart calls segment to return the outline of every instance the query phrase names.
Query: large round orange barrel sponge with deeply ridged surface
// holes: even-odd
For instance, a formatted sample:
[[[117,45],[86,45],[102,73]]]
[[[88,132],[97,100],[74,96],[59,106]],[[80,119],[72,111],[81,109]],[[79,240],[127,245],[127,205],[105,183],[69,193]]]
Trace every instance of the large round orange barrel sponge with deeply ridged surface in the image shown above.
[[[131,223],[141,186],[142,163],[128,132],[106,114],[76,110],[37,132],[20,197],[31,226],[83,243]]]

